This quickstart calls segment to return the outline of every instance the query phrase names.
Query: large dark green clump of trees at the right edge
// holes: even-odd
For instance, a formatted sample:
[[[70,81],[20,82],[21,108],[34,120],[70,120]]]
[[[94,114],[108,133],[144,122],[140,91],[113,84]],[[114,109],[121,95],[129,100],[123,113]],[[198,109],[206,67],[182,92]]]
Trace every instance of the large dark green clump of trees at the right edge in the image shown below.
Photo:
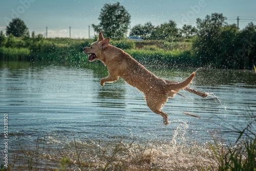
[[[255,26],[249,24],[238,31],[236,25],[226,25],[222,14],[197,19],[198,36],[193,41],[192,54],[198,66],[248,69],[255,62]]]

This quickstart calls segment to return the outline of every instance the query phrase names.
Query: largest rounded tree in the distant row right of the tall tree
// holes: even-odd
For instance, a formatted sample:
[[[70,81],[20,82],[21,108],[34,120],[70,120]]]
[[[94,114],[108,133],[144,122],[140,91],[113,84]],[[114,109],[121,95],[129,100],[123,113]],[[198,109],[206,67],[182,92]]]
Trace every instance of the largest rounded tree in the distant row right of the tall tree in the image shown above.
[[[169,20],[169,23],[161,24],[157,26],[151,35],[151,39],[169,39],[178,35],[178,29],[176,23],[173,20]]]

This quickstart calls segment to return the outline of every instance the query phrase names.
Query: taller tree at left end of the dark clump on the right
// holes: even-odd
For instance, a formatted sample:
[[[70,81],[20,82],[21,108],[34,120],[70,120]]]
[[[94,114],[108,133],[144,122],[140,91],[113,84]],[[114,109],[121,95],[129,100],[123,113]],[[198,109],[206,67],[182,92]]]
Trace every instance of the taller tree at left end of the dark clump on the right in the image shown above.
[[[218,13],[206,15],[205,19],[197,19],[198,36],[193,42],[193,50],[199,65],[218,63],[221,57],[221,31],[226,25],[225,19],[227,18]]]

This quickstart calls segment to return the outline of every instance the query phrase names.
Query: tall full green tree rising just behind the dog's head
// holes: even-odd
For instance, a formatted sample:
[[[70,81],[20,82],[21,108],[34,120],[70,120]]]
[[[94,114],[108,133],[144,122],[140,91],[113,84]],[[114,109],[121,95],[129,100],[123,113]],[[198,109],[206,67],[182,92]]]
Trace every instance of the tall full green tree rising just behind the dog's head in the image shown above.
[[[105,37],[122,39],[128,31],[131,15],[119,2],[105,4],[98,17],[99,25],[92,25],[94,31],[102,32]]]

